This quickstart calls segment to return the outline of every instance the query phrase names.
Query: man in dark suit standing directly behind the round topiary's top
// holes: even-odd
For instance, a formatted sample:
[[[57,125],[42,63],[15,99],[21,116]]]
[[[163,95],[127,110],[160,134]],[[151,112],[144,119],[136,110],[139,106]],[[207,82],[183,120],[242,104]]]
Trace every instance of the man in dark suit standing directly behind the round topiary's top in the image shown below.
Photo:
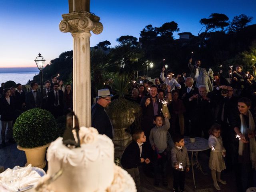
[[[31,82],[31,91],[26,94],[26,108],[32,109],[41,107],[41,93],[37,92],[37,82]]]

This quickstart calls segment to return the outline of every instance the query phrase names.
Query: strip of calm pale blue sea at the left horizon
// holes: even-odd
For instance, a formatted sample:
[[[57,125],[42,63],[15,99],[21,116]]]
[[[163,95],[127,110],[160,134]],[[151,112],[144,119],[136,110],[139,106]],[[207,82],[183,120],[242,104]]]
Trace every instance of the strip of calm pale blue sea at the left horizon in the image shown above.
[[[12,80],[22,85],[38,74],[38,68],[0,68],[0,83]]]

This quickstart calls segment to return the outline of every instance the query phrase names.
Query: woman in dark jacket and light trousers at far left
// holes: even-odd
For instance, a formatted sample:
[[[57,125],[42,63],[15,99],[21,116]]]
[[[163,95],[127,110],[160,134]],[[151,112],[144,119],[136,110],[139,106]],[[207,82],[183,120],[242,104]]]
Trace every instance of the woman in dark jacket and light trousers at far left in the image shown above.
[[[11,91],[9,88],[4,89],[4,96],[0,100],[0,114],[1,114],[1,124],[2,124],[2,130],[1,130],[1,136],[2,136],[2,146],[6,146],[5,144],[5,130],[6,126],[8,124],[8,130],[6,134],[6,138],[9,138],[9,140],[13,140],[12,138],[12,121],[14,119],[14,110],[15,110],[15,104],[14,99],[12,96],[10,96]]]

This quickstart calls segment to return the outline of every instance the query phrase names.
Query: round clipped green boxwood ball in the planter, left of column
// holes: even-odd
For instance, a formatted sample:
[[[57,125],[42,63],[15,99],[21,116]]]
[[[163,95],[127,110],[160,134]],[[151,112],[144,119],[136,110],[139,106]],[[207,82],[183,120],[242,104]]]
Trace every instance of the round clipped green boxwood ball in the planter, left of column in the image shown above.
[[[58,137],[56,120],[47,110],[34,108],[22,113],[13,127],[13,138],[19,146],[44,146]]]

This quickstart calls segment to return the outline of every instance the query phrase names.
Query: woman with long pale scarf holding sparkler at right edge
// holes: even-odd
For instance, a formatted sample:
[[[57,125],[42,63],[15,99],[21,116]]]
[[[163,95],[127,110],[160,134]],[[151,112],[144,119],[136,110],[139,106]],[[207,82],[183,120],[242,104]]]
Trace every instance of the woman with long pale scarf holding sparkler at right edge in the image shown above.
[[[252,102],[248,98],[238,100],[238,110],[240,112],[234,131],[239,136],[238,154],[235,165],[236,183],[238,191],[245,191],[253,186],[253,172],[256,168],[256,142],[255,142],[255,122],[250,112]]]

